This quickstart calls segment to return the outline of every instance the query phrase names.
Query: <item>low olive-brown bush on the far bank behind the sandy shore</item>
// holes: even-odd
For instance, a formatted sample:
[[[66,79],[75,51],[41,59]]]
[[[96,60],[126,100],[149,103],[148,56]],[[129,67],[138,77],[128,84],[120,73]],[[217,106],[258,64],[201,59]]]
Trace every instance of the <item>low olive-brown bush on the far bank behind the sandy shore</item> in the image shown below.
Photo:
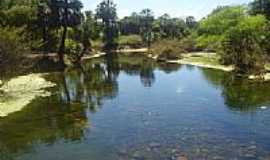
[[[141,36],[139,35],[128,35],[128,36],[120,36],[118,38],[119,47],[131,47],[138,48],[143,45],[143,41]]]

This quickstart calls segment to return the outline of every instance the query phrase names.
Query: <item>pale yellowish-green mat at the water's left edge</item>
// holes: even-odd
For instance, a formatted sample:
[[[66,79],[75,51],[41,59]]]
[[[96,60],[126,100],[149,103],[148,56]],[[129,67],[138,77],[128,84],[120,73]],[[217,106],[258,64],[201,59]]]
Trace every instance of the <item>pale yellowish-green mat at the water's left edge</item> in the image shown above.
[[[46,81],[42,74],[29,74],[11,79],[0,88],[0,117],[20,111],[36,97],[50,96],[46,88],[55,84]]]

